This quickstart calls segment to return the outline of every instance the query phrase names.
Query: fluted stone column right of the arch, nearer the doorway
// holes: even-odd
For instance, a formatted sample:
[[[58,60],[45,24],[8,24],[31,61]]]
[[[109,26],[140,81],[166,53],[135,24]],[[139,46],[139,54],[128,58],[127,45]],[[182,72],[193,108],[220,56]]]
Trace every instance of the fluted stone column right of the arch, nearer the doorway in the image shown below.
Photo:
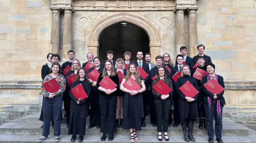
[[[185,46],[185,25],[183,8],[175,8],[176,12],[176,54],[180,54],[180,47]]]

